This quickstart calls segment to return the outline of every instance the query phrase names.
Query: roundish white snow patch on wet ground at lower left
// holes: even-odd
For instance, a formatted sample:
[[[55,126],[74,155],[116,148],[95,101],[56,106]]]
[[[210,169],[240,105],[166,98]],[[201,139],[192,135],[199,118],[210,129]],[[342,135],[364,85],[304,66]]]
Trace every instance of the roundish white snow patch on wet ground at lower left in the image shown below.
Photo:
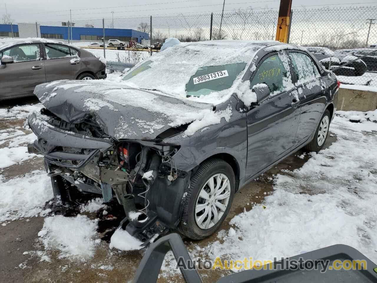
[[[64,217],[56,215],[44,220],[43,228],[38,233],[42,237],[45,249],[60,250],[59,258],[86,260],[95,252],[97,220],[90,220],[84,215]]]

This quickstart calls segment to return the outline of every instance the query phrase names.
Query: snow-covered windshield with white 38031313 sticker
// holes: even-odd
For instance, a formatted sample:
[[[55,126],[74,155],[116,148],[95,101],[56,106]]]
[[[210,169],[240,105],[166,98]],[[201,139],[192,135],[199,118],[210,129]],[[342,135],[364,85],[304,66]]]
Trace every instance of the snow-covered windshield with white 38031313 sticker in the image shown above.
[[[263,47],[243,44],[181,43],[139,63],[123,80],[178,97],[210,95],[221,99]]]

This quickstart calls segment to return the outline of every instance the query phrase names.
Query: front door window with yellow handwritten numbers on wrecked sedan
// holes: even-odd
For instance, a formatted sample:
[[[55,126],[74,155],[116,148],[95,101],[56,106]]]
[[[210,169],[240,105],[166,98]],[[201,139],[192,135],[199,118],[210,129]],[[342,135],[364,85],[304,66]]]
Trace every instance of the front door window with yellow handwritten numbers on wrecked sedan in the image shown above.
[[[289,65],[283,64],[278,54],[267,57],[254,74],[250,87],[252,88],[258,83],[265,83],[268,85],[271,95],[287,91],[289,85],[292,85]]]

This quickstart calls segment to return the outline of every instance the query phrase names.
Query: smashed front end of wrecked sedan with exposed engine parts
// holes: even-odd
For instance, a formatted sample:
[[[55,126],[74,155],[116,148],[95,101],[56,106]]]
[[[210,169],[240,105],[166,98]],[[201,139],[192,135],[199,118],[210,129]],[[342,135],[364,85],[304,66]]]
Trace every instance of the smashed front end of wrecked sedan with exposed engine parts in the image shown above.
[[[69,206],[75,189],[101,194],[104,203],[115,198],[125,214],[120,226],[145,243],[176,228],[190,180],[173,160],[180,146],[158,139],[118,141],[93,120],[68,123],[45,108],[29,117],[38,140],[28,151],[44,155],[55,200]]]

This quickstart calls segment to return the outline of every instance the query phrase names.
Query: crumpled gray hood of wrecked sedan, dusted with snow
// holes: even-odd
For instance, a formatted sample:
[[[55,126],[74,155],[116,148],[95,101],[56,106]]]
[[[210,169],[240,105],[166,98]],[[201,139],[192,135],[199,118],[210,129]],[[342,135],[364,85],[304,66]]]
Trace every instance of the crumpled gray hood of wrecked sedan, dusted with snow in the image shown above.
[[[117,140],[153,140],[213,111],[208,103],[100,80],[44,83],[34,94],[62,120],[75,124],[90,118]]]

